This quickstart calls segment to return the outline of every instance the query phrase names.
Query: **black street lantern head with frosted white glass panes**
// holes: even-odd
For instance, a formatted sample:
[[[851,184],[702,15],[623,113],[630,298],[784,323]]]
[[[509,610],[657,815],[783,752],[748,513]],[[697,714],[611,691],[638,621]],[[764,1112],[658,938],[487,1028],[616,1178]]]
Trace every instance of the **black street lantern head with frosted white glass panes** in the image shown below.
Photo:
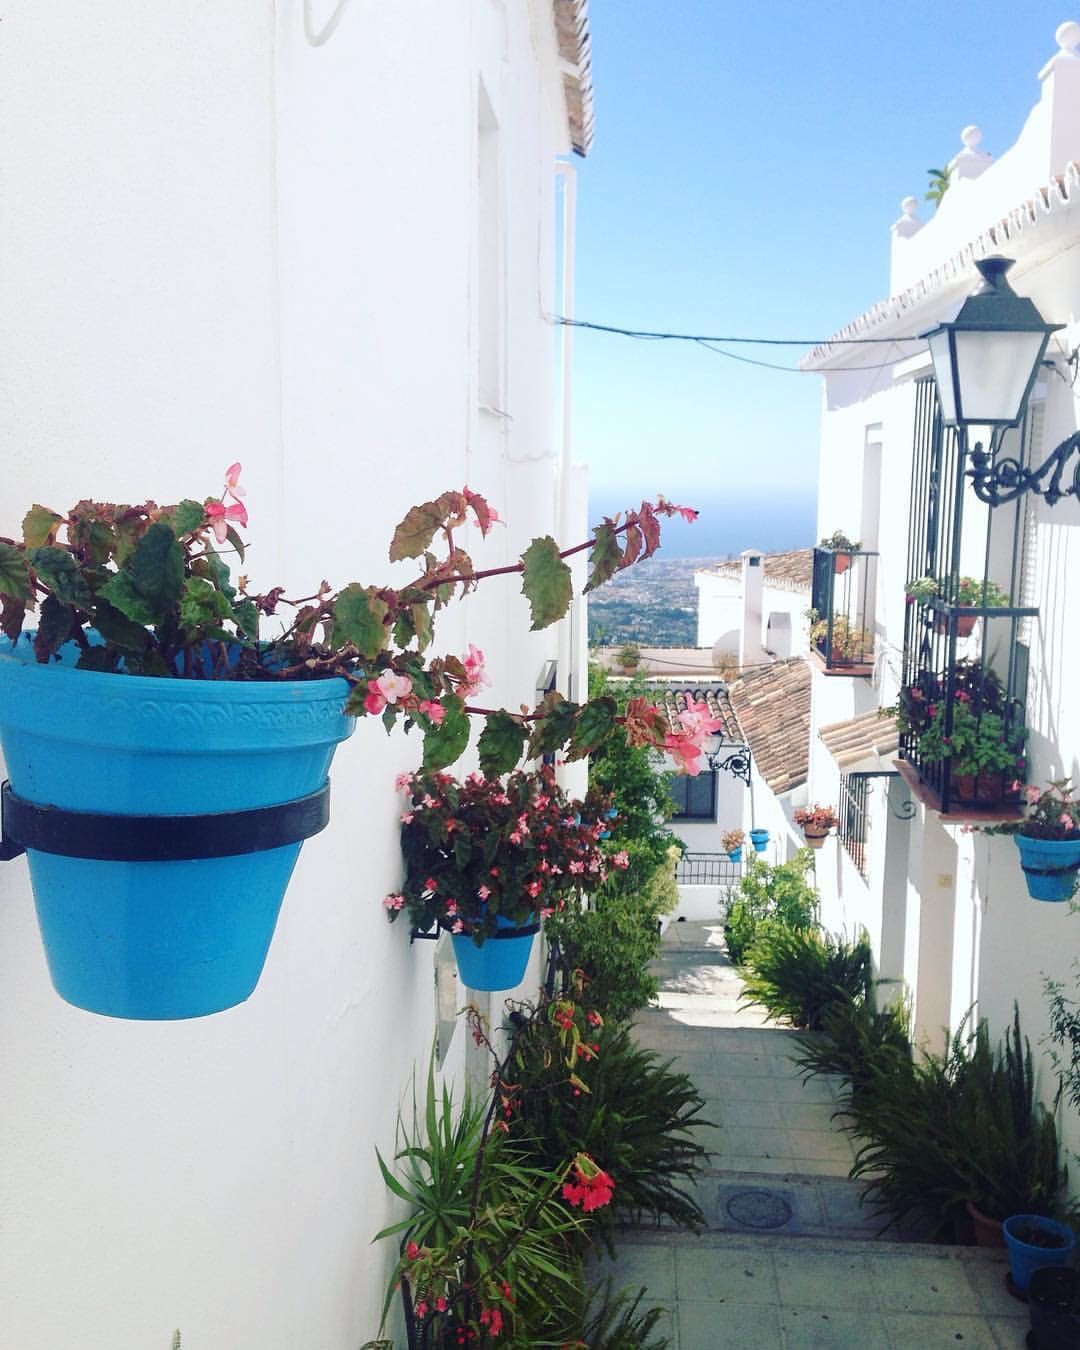
[[[983,258],[976,290],[952,323],[922,333],[934,362],[941,420],[946,427],[1015,427],[1023,417],[1050,333],[1026,296],[1006,273],[1011,258]]]

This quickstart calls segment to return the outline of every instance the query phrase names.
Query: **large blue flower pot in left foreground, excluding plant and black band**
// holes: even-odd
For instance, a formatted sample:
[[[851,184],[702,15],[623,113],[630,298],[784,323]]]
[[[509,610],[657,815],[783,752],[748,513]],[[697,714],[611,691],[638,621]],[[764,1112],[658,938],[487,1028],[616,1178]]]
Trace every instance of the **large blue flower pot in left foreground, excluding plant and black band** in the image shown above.
[[[39,666],[0,643],[0,747],[12,791],[111,815],[208,815],[292,802],[327,782],[352,730],[340,679],[151,679]],[[109,1017],[204,1017],[255,988],[300,842],[184,861],[28,848],[49,973]]]

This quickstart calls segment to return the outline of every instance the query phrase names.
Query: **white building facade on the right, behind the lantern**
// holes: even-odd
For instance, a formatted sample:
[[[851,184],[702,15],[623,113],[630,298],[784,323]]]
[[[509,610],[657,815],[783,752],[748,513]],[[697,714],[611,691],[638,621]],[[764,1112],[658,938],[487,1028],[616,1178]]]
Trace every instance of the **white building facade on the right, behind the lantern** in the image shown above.
[[[1044,977],[1072,988],[1080,949],[1069,907],[1029,898],[1013,841],[977,832],[995,811],[979,799],[965,803],[959,786],[942,796],[915,738],[900,726],[898,752],[895,724],[875,718],[925,680],[926,663],[944,649],[941,624],[906,602],[905,586],[927,571],[942,541],[956,544],[961,572],[981,576],[986,563],[1027,613],[979,618],[969,637],[957,639],[948,668],[936,667],[934,687],[957,670],[1007,671],[1015,699],[1008,717],[1027,728],[1018,756],[1027,782],[1080,778],[1080,501],[1050,505],[1029,493],[1015,509],[987,508],[971,483],[957,485],[954,441],[942,432],[929,352],[915,336],[953,317],[979,279],[976,259],[1015,259],[1014,289],[1065,327],[1007,452],[1038,466],[1080,425],[1071,359],[1080,342],[1080,26],[1064,24],[1057,40],[1017,142],[991,159],[977,128],[965,128],[933,219],[921,223],[914,200],[905,201],[892,231],[890,297],[836,335],[895,342],[872,348],[882,369],[856,370],[868,364],[867,348],[838,344],[805,362],[825,377],[818,533],[841,529],[875,555],[859,616],[872,634],[867,659],[845,671],[829,668],[824,652],[811,656],[809,796],[838,810],[842,836],[819,855],[822,918],[830,929],[867,927],[880,973],[906,990],[918,1038],[936,1046],[969,1008],[1000,1035],[1015,999],[1037,1048],[1048,1025]],[[945,518],[957,502],[963,525],[959,516]],[[871,570],[864,558],[853,560],[859,566]],[[826,589],[838,593],[832,558],[824,568]],[[1010,795],[1007,778],[1003,792]],[[998,818],[1015,815],[1015,794],[999,806]],[[1050,1096],[1049,1073],[1042,1081]],[[1076,1142],[1075,1120],[1066,1139]]]

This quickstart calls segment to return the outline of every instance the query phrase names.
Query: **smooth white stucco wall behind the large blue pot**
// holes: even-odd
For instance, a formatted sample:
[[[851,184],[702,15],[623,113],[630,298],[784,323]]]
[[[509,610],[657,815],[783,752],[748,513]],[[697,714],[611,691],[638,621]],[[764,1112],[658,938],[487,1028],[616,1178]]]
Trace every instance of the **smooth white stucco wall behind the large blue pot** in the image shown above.
[[[331,9],[313,3],[316,28]],[[351,3],[316,49],[300,0],[15,0],[4,42],[0,533],[32,501],[209,494],[235,459],[250,574],[298,594],[405,575],[385,562],[393,524],[464,482],[510,522],[486,563],[559,532],[548,5]],[[478,408],[481,80],[509,417]],[[440,640],[481,645],[512,706],[558,651],[513,582]],[[393,778],[417,759],[375,721],[342,748],[262,981],[217,1017],[62,1003],[26,863],[0,868],[0,1345],[375,1334],[392,1253],[370,1239],[393,1210],[374,1149],[393,1152],[435,1030],[433,944],[410,948],[379,907],[400,878]]]

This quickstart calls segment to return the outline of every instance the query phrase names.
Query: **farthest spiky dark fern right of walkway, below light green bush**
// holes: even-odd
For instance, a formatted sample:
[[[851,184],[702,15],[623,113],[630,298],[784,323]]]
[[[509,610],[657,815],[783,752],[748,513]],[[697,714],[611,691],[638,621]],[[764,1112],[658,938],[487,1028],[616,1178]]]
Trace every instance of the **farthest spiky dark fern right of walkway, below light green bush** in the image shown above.
[[[873,979],[865,933],[855,941],[817,929],[767,923],[745,953],[744,998],[772,1018],[818,1031],[840,1006],[864,1004]]]

